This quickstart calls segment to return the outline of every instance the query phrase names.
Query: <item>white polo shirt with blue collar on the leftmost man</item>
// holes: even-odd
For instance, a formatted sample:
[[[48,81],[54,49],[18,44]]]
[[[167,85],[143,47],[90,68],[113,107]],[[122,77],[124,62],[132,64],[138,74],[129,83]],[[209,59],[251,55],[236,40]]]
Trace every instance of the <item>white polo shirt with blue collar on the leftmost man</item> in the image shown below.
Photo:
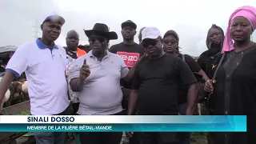
[[[39,38],[19,46],[6,66],[16,76],[24,71],[33,115],[62,113],[70,105],[65,76],[66,51],[62,46],[52,50]]]

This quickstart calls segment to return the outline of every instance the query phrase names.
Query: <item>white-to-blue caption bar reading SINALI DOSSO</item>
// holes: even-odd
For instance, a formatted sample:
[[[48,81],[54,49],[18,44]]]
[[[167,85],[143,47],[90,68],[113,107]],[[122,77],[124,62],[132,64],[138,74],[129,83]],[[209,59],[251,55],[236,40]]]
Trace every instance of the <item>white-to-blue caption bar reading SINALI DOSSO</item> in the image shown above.
[[[118,124],[118,123],[212,123],[226,122],[226,116],[202,115],[1,115],[0,123],[66,123],[66,124]]]

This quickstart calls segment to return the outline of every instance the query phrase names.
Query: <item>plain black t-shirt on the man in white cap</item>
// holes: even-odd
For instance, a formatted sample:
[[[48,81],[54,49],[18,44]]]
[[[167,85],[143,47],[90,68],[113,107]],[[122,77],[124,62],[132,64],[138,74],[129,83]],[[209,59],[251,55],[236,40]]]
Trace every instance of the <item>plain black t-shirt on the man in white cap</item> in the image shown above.
[[[164,54],[161,58],[139,63],[132,84],[132,89],[138,90],[137,113],[178,114],[178,82],[186,86],[197,82],[181,58]]]

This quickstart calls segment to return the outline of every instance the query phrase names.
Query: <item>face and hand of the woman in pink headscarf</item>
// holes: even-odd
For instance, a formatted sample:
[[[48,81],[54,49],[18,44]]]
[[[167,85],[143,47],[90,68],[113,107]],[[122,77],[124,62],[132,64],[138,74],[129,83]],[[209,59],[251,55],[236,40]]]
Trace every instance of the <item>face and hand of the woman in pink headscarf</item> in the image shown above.
[[[250,40],[250,34],[253,33],[252,26],[248,19],[244,17],[234,18],[230,26],[230,35],[234,40],[234,50],[236,52],[246,50],[250,46],[254,45],[254,42]],[[217,81],[210,79],[206,82],[205,89],[207,92],[213,92],[214,86],[213,83]]]

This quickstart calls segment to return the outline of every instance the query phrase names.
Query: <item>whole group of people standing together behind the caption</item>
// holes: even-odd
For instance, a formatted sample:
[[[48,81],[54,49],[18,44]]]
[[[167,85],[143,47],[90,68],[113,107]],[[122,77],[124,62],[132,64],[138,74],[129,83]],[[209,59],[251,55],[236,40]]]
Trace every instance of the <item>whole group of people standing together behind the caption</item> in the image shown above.
[[[103,23],[84,30],[91,50],[78,49],[79,34],[66,34],[66,47],[54,41],[65,19],[51,14],[42,22],[42,38],[19,46],[0,82],[0,102],[15,77],[23,72],[29,83],[33,115],[193,115],[198,104],[199,79],[210,115],[247,115],[246,133],[208,133],[209,144],[256,143],[256,9],[242,6],[230,16],[226,35],[212,25],[209,50],[196,62],[179,52],[174,30],[160,34],[156,27],[139,30],[122,22],[123,42],[110,46],[118,34]],[[255,61],[255,62],[254,62]],[[198,77],[198,75],[200,77]],[[207,97],[206,97],[207,98]],[[130,144],[189,144],[190,133],[126,132]],[[64,144],[65,133],[36,132],[37,144]],[[119,144],[122,132],[82,132],[82,144]]]

